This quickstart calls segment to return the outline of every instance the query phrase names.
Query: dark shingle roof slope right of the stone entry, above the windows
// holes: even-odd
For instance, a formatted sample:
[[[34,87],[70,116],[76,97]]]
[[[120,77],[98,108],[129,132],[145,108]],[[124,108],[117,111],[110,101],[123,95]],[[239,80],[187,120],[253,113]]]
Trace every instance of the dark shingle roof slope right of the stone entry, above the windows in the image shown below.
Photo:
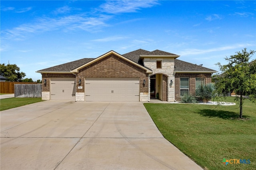
[[[174,60],[174,71],[212,71],[212,72],[216,72],[213,69],[208,69],[206,67],[188,63],[186,61],[181,61],[179,59]]]

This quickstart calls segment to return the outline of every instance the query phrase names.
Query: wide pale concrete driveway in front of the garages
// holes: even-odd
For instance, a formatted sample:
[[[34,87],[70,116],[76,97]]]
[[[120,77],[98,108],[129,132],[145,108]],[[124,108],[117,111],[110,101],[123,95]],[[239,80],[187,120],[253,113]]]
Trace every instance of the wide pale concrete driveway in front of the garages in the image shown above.
[[[1,170],[202,169],[141,102],[44,101],[1,112]]]

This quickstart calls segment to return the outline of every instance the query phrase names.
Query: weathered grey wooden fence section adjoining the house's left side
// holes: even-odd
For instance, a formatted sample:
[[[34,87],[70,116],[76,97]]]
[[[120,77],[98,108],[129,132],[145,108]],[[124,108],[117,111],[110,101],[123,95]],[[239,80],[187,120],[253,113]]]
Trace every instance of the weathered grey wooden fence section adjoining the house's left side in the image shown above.
[[[14,97],[42,97],[41,84],[15,84]]]

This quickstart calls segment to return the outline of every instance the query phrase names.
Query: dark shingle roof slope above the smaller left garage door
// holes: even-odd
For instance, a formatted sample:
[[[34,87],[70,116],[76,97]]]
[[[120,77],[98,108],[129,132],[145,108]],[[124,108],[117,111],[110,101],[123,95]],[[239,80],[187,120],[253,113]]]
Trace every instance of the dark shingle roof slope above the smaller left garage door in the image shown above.
[[[38,70],[37,72],[44,72],[44,71],[61,71],[61,72],[70,72],[71,70],[80,67],[81,65],[84,65],[85,63],[88,63],[89,61],[92,61],[94,58],[83,58],[78,59],[76,61],[71,61],[69,63],[56,65],[54,67],[49,67],[46,69]]]

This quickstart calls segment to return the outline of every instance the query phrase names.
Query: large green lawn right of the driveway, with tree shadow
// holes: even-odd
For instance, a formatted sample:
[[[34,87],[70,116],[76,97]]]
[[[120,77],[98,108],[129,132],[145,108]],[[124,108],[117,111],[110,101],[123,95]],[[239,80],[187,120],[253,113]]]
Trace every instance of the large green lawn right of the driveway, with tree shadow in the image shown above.
[[[234,102],[228,97],[226,101]],[[239,107],[144,103],[163,136],[206,170],[256,169],[256,104]],[[250,164],[222,164],[223,158]]]

